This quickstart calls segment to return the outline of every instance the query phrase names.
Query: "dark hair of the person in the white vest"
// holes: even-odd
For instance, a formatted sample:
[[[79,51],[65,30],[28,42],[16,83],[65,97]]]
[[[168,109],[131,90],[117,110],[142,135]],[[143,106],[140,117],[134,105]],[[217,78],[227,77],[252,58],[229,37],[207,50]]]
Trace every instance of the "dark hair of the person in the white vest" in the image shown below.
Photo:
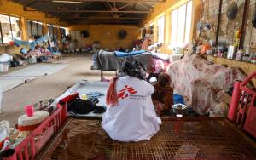
[[[145,73],[145,71],[146,69],[143,67],[143,64],[135,59],[126,60],[122,66],[122,72],[125,73],[125,75],[137,77],[141,80],[144,79],[143,73]]]

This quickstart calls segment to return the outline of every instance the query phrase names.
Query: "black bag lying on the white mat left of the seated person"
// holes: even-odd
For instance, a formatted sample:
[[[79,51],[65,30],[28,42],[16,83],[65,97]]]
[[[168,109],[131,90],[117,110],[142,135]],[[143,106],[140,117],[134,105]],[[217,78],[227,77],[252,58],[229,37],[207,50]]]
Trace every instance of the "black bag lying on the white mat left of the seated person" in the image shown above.
[[[67,104],[67,111],[73,111],[75,114],[87,114],[95,110],[95,103],[91,100],[76,99]]]

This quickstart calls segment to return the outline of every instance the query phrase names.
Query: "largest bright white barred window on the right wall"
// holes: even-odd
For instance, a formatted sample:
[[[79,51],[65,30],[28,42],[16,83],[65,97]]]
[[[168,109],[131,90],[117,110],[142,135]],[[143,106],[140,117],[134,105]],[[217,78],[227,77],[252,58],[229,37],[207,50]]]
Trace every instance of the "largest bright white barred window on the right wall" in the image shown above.
[[[192,1],[183,4],[171,13],[171,47],[183,47],[189,43],[192,20]]]

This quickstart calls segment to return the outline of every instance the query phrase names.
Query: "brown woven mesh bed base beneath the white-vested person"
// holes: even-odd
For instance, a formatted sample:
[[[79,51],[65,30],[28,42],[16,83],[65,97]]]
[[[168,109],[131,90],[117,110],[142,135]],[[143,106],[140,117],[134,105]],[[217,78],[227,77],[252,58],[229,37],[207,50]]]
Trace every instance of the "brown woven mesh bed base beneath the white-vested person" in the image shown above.
[[[256,148],[224,120],[163,120],[151,140],[111,140],[96,120],[73,119],[41,159],[255,159]]]

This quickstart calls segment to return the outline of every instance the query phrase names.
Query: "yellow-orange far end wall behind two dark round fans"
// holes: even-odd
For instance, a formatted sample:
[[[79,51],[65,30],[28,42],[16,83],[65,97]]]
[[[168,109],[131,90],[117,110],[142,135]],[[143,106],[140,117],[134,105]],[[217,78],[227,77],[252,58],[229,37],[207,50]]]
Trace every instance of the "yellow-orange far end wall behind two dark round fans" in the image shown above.
[[[120,26],[120,25],[73,25],[67,28],[72,39],[78,40],[77,48],[83,48],[86,44],[93,41],[100,41],[102,49],[119,49],[132,47],[132,41],[137,40],[141,36],[141,30],[138,26]],[[81,37],[80,31],[89,31],[90,37]],[[119,39],[118,32],[120,30],[127,31],[125,39]],[[73,33],[75,32],[75,33]]]

